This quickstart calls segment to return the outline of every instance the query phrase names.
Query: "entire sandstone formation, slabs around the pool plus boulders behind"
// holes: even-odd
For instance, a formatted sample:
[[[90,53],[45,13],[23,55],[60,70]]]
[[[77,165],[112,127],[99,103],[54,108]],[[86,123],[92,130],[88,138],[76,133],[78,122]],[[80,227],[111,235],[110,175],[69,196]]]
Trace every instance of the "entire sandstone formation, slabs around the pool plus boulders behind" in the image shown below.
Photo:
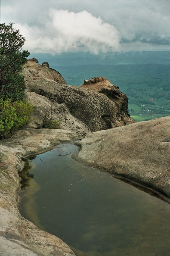
[[[127,111],[127,96],[103,77],[85,81],[82,87],[67,86],[59,72],[49,69],[47,63],[39,65],[35,58],[28,60],[24,74],[29,90],[26,97],[34,105],[33,121],[29,125],[32,128],[16,131],[11,139],[1,142],[3,256],[74,255],[62,240],[20,215],[18,172],[24,166],[23,157],[46,152],[62,142],[73,142],[85,134],[88,135],[78,143],[81,149],[74,155],[75,159],[118,178],[148,186],[169,200],[170,117],[134,124]],[[67,131],[33,129],[40,125],[48,109],[52,109],[52,118],[61,120],[62,128]],[[108,130],[99,131],[104,129]]]

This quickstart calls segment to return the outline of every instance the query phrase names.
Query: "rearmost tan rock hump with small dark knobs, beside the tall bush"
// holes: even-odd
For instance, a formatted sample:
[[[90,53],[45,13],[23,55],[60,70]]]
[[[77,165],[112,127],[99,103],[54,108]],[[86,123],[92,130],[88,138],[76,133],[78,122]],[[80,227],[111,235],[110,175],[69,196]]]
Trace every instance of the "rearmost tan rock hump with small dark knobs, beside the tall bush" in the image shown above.
[[[25,76],[25,82],[29,83],[32,80],[43,77],[47,79],[54,80],[59,84],[66,84],[62,75],[55,69],[49,68],[48,62],[43,62],[42,65],[38,64],[36,58],[28,59],[24,66],[23,74]]]

